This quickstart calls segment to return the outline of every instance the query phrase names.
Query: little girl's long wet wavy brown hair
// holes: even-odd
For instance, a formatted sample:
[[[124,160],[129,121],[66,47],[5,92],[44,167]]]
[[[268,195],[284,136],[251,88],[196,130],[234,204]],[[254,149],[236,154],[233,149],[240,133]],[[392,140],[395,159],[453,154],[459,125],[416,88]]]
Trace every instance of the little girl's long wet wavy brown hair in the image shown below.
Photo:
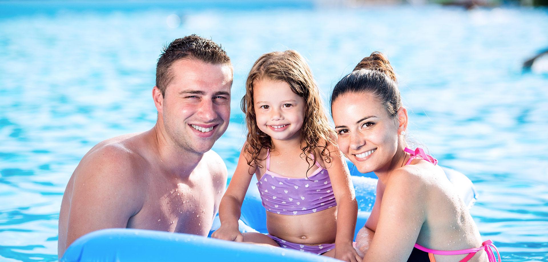
[[[304,57],[294,50],[283,52],[271,52],[262,55],[255,61],[249,71],[246,81],[246,95],[242,98],[241,107],[246,114],[247,145],[245,151],[250,158],[247,164],[262,167],[259,155],[263,148],[273,149],[269,135],[262,132],[257,126],[253,88],[262,79],[284,81],[289,84],[291,90],[306,102],[304,123],[301,127],[301,144],[304,144],[302,154],[309,164],[309,170],[314,165],[314,159],[330,162],[328,145],[334,144],[334,129],[329,125],[326,110],[323,107],[318,86]],[[319,150],[319,156],[316,153]],[[308,173],[308,171],[307,171]],[[251,173],[253,174],[253,173]]]

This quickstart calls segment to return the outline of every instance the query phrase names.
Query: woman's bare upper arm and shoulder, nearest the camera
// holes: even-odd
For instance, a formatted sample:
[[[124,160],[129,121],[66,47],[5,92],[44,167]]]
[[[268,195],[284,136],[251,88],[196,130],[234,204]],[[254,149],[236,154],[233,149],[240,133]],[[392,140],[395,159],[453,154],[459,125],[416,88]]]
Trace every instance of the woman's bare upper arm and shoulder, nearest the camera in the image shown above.
[[[426,190],[412,173],[401,170],[390,174],[375,235],[363,262],[407,261],[426,218]]]

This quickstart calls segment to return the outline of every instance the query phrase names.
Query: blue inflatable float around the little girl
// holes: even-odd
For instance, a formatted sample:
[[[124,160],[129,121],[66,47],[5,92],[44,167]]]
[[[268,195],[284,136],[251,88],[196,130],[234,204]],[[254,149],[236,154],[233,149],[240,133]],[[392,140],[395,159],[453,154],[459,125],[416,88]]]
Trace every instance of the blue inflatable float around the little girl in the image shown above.
[[[461,199],[469,207],[477,194],[470,179],[455,170],[444,168],[447,178],[455,185]],[[356,231],[363,227],[375,202],[377,179],[373,173],[352,172],[352,182],[358,200]],[[253,185],[253,183],[252,183]],[[239,229],[242,232],[266,230],[266,213],[259,191],[249,187],[242,205]],[[211,233],[220,226],[219,217]],[[339,261],[323,256],[277,247],[256,246],[216,240],[214,238],[139,229],[105,229],[84,235],[71,244],[61,261]]]

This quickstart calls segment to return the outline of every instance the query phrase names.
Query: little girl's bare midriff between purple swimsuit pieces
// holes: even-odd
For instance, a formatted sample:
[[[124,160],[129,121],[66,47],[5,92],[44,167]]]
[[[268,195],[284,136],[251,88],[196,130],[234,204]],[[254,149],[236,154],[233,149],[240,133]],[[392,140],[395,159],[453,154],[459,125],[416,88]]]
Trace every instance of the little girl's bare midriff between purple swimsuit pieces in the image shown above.
[[[283,240],[315,246],[335,243],[337,207],[301,215],[283,215],[266,212],[269,234]]]

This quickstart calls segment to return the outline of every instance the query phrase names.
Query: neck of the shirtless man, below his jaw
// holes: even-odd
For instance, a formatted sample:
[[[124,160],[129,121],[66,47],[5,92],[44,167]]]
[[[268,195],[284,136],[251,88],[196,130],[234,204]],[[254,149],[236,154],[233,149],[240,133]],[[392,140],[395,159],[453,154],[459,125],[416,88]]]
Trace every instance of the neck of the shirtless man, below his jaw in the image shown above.
[[[151,144],[156,151],[156,158],[159,165],[167,174],[180,178],[188,178],[194,168],[203,158],[203,154],[189,152],[179,147],[172,139],[165,134],[163,123],[156,123],[149,131]]]

